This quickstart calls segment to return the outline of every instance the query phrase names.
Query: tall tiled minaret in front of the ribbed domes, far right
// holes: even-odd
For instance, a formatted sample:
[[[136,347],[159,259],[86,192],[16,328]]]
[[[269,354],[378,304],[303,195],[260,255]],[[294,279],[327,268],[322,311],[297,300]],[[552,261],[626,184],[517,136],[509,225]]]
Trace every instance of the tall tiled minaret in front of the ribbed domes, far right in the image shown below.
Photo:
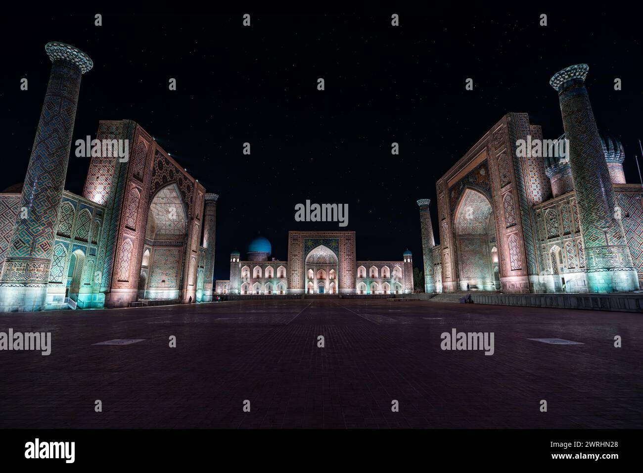
[[[585,88],[587,64],[556,73],[549,84],[558,92],[569,162],[585,243],[590,292],[638,290],[620,211],[603,153],[590,98]]]

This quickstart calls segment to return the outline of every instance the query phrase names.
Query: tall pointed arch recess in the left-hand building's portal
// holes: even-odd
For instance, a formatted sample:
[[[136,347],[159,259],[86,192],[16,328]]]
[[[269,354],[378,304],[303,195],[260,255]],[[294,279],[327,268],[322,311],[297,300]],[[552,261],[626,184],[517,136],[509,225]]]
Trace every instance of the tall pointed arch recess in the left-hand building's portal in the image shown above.
[[[141,258],[145,286],[139,286],[143,299],[181,298],[186,227],[185,207],[179,188],[176,184],[163,187],[150,201],[147,215]]]

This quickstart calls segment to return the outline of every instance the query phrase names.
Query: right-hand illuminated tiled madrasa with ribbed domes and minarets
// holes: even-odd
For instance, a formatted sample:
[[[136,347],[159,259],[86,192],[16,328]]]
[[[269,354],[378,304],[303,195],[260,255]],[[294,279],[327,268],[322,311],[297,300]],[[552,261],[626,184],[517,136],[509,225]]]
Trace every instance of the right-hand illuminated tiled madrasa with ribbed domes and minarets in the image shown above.
[[[508,113],[437,181],[440,245],[423,245],[436,292],[638,290],[643,188],[625,183],[620,142],[597,131],[587,71],[571,66],[550,81],[568,153],[519,156],[518,140],[541,140],[541,129]]]

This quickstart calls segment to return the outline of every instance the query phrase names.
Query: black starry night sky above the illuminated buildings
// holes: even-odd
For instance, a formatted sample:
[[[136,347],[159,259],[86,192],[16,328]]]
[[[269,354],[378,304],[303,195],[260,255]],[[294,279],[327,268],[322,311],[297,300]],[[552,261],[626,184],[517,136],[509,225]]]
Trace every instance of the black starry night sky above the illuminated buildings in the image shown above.
[[[103,26],[94,25],[95,13]],[[244,253],[258,233],[273,257],[287,259],[288,230],[355,230],[358,259],[400,261],[409,248],[421,267],[415,201],[431,199],[437,232],[435,182],[505,113],[527,112],[545,138],[560,136],[548,81],[579,62],[590,66],[599,130],[622,141],[626,177],[638,182],[643,49],[637,15],[624,10],[161,13],[0,19],[0,190],[24,180],[51,68],[48,41],[94,61],[82,79],[74,140],[95,138],[99,120],[134,120],[220,194],[216,279],[228,278],[230,251]],[[401,26],[391,26],[392,13]],[[539,26],[541,13],[548,26]],[[28,91],[20,90],[23,77]],[[473,91],[465,90],[469,77]],[[617,77],[621,91],[613,89]],[[170,78],[177,91],[168,90]],[[82,194],[88,167],[72,147],[66,189]],[[294,205],[306,199],[348,203],[349,226],[294,221]]]

